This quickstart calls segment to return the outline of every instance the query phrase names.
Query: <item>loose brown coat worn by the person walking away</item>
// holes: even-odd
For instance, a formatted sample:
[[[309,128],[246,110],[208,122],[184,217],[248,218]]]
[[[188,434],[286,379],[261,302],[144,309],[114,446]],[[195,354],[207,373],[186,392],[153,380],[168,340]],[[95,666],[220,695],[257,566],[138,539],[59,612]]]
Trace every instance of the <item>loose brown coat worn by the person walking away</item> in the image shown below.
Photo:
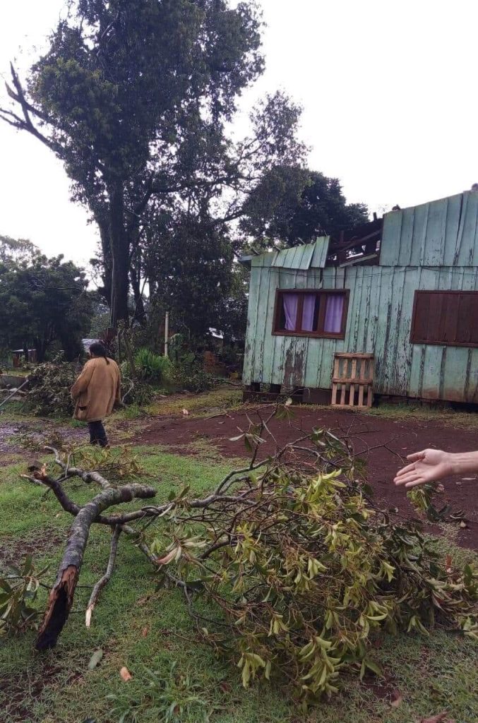
[[[113,359],[102,356],[87,361],[83,371],[72,386],[72,398],[77,406],[74,419],[82,422],[98,422],[111,414],[115,402],[120,400],[121,375]]]

